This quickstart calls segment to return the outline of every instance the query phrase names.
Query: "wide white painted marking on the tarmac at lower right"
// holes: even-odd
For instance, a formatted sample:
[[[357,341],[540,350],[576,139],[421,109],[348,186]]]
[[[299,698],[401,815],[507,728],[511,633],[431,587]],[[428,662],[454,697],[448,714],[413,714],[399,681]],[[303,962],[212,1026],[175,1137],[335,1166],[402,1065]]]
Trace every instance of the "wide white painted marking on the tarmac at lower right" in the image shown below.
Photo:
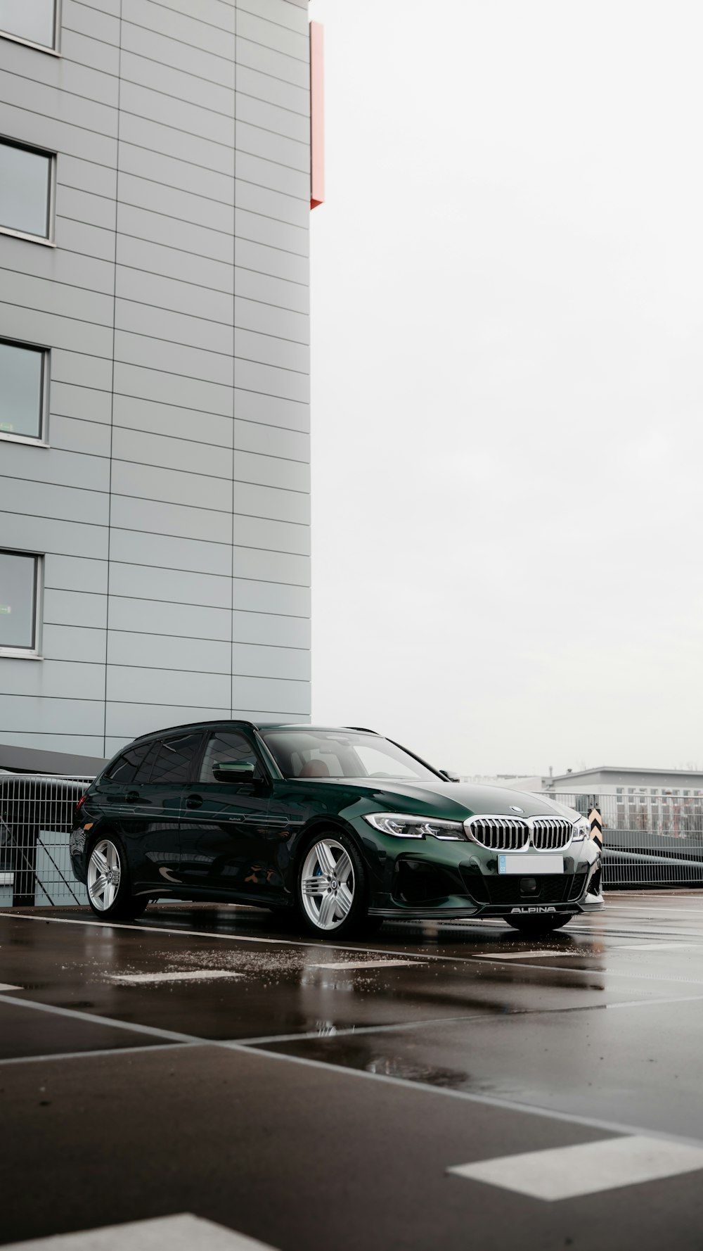
[[[638,1135],[480,1160],[457,1165],[448,1172],[553,1202],[640,1186],[699,1168],[703,1168],[703,1148]]]

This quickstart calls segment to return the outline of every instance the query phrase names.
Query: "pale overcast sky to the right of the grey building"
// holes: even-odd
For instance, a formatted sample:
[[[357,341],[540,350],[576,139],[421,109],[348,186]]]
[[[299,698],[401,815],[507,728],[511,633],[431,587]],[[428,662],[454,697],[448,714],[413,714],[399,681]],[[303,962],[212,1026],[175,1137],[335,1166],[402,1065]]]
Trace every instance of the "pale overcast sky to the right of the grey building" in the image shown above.
[[[310,15],[314,718],[703,766],[703,6]]]

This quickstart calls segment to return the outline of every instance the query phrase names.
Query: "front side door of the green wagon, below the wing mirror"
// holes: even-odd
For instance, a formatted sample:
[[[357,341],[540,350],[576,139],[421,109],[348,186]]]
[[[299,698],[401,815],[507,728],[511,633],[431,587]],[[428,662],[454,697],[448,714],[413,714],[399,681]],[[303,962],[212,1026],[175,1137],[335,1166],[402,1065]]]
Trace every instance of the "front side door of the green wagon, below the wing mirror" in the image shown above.
[[[268,769],[244,731],[211,731],[196,781],[184,789],[181,873],[189,887],[253,901],[270,896],[269,793]]]

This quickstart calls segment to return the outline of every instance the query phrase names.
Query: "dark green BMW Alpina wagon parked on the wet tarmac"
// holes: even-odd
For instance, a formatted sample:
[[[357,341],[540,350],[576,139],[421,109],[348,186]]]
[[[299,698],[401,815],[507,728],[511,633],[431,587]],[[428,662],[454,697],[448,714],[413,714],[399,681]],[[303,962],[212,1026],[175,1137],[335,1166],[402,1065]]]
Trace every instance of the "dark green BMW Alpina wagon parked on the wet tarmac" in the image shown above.
[[[462,786],[370,729],[245,721],[144,734],[71,832],[94,912],[219,899],[338,937],[384,918],[503,917],[548,932],[603,907],[588,822],[544,796]]]

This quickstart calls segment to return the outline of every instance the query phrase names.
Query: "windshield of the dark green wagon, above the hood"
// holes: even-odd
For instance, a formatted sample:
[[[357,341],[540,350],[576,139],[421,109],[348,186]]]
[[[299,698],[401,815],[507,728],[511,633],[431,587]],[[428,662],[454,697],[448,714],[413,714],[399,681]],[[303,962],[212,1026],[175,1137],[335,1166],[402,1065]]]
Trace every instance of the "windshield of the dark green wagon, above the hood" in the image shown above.
[[[275,729],[261,734],[285,778],[414,778],[437,773],[378,734],[346,729]]]

